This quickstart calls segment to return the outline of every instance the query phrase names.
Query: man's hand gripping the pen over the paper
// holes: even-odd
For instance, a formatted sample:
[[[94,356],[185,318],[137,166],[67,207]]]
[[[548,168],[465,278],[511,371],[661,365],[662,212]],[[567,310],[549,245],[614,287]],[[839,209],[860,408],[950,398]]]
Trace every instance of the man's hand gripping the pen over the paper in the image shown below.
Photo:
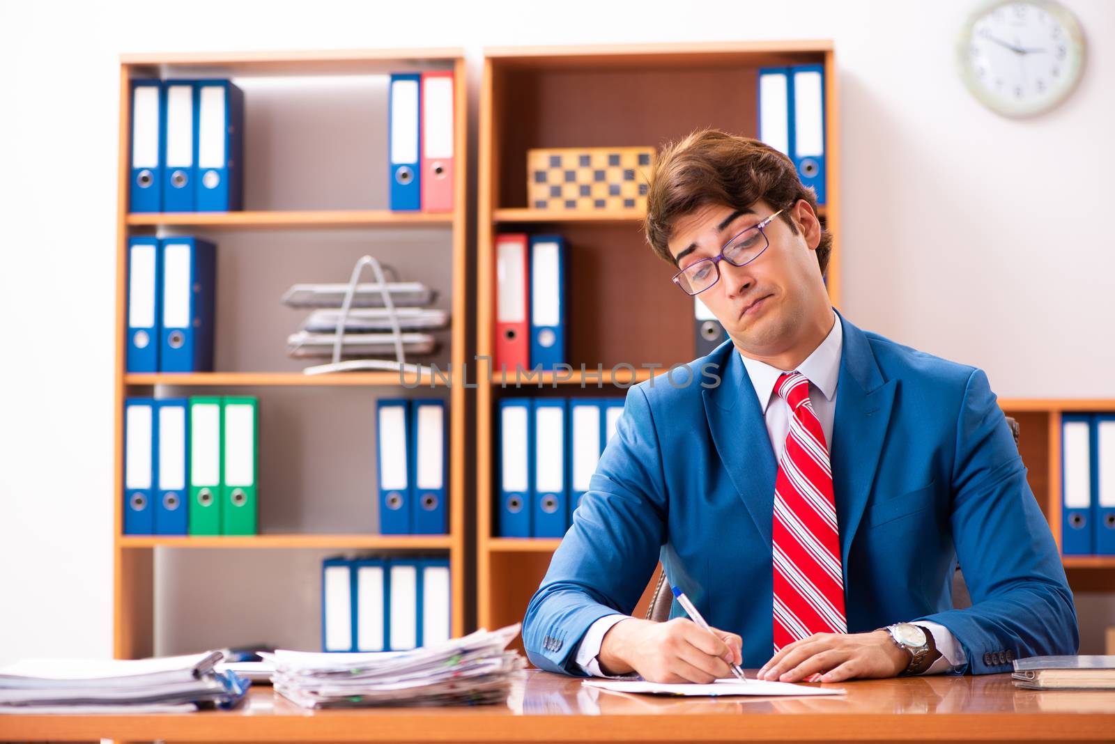
[[[604,634],[600,668],[605,674],[638,672],[648,682],[709,683],[731,676],[743,639],[735,633],[702,630],[692,620],[667,623],[627,618]]]

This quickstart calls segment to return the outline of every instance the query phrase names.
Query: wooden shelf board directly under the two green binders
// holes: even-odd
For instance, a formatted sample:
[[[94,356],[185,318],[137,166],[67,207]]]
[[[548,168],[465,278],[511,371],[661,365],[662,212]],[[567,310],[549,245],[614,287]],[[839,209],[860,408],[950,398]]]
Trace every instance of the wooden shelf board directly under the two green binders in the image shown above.
[[[448,550],[448,535],[214,535],[120,536],[120,548],[326,548],[332,550]]]

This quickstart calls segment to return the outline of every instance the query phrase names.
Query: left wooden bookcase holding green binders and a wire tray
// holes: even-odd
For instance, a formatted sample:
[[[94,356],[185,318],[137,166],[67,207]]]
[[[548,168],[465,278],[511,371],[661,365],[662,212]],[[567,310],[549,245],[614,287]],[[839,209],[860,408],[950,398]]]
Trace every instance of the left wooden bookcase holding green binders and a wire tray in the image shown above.
[[[387,99],[369,98],[385,91],[369,76],[391,72],[452,70],[454,72],[454,202],[450,213],[392,212],[388,202],[388,163],[386,153]],[[330,78],[311,80],[316,76]],[[332,76],[348,76],[343,86]],[[251,207],[229,213],[151,213],[128,212],[130,182],[130,82],[137,78],[230,77],[245,91],[245,170],[244,202]],[[264,80],[264,78],[266,78]],[[385,81],[386,82],[386,81]],[[350,92],[348,86],[358,87]],[[301,371],[261,372],[260,368],[285,369],[271,364],[266,354],[281,345],[285,310],[278,298],[293,281],[343,282],[352,262],[369,252],[382,251],[388,257],[405,260],[396,270],[409,271],[417,280],[429,282],[438,292],[443,307],[452,319],[446,331],[438,331],[439,366],[446,363],[463,369],[466,360],[467,307],[471,288],[467,275],[468,158],[467,69],[462,49],[391,49],[326,51],[244,51],[124,55],[119,66],[119,124],[117,134],[117,251],[116,251],[116,413],[114,425],[115,480],[114,502],[114,655],[138,658],[166,653],[167,644],[183,644],[184,638],[165,628],[157,617],[166,603],[181,603],[192,581],[205,577],[205,561],[213,558],[204,549],[246,550],[237,559],[237,571],[230,571],[226,590],[240,580],[256,584],[260,571],[281,559],[256,549],[294,548],[322,551],[400,550],[447,554],[450,566],[450,629],[459,636],[467,630],[466,611],[466,429],[468,400],[463,385],[448,386],[428,375],[400,379],[398,372],[355,372],[307,375]],[[359,106],[353,99],[359,98]],[[369,107],[368,101],[372,101]],[[381,105],[377,106],[376,100]],[[307,105],[306,101],[312,101]],[[381,111],[381,114],[379,112]],[[282,125],[282,126],[280,126]],[[258,127],[258,128],[256,128]],[[253,131],[264,135],[253,138]],[[317,139],[316,139],[317,137]],[[328,140],[323,138],[328,137]],[[384,138],[380,146],[379,137]],[[323,141],[332,143],[331,147]],[[252,148],[252,143],[255,143]],[[313,158],[308,158],[312,153]],[[253,155],[254,154],[254,155]],[[368,166],[382,166],[382,179],[369,183]],[[300,205],[313,208],[299,208]],[[336,205],[340,208],[330,208]],[[196,374],[130,374],[126,372],[127,246],[133,235],[151,235],[159,228],[176,231],[220,231],[217,237],[217,329],[215,356],[219,370]],[[385,236],[377,231],[382,228]],[[363,231],[361,233],[346,233]],[[261,234],[253,234],[256,231]],[[392,231],[388,234],[386,231]],[[318,234],[313,234],[317,232]],[[428,254],[436,251],[439,263],[430,270]],[[394,255],[390,253],[394,251]],[[415,258],[414,256],[418,256]],[[439,272],[439,273],[438,273]],[[321,276],[317,278],[316,276]],[[304,278],[303,278],[304,277]],[[332,277],[332,278],[330,278]],[[260,302],[266,298],[266,304]],[[224,346],[220,340],[224,339]],[[287,362],[283,359],[283,362]],[[309,364],[309,362],[307,362]],[[417,384],[417,388],[415,385]],[[261,421],[260,448],[260,527],[269,529],[268,519],[293,533],[252,536],[125,536],[123,535],[124,486],[124,401],[128,395],[149,395],[144,388],[197,388],[195,394],[220,392],[225,388],[264,388],[259,393]],[[361,391],[360,386],[372,390]],[[448,533],[435,536],[385,536],[370,533],[374,527],[349,519],[370,511],[376,495],[375,399],[398,395],[390,388],[415,388],[414,397],[444,398],[448,405],[446,435],[447,461],[445,487],[448,497]],[[378,388],[384,389],[379,392]],[[348,389],[348,390],[341,390]],[[156,391],[161,394],[161,391]],[[410,395],[409,391],[403,393]],[[366,402],[365,402],[366,401]],[[269,417],[268,407],[272,418]],[[348,427],[348,429],[345,429]],[[339,440],[339,447],[321,444],[329,437],[367,432],[367,439],[352,435]],[[355,434],[353,434],[355,435]],[[317,449],[314,449],[317,448]],[[312,457],[311,457],[312,456]],[[268,468],[269,457],[272,468]],[[357,480],[359,479],[359,480]],[[268,500],[271,489],[273,500]],[[314,491],[317,488],[320,492]],[[348,489],[348,490],[346,490]],[[266,505],[266,506],[264,506]],[[270,511],[270,517],[269,515]],[[316,511],[318,509],[318,511]],[[304,526],[304,532],[299,532]],[[347,530],[367,530],[346,533]],[[166,562],[156,559],[155,548],[169,551]],[[285,560],[287,558],[282,558]],[[292,618],[320,616],[320,566],[318,558],[299,554],[291,570],[292,580],[302,581],[303,599],[313,607],[294,605]],[[307,564],[306,561],[311,561]],[[190,561],[190,565],[185,565]],[[253,572],[255,571],[255,572]],[[232,576],[234,574],[234,576]],[[182,587],[167,579],[181,578]],[[156,593],[156,585],[158,591]],[[162,597],[162,598],[159,598]],[[156,601],[158,599],[158,601]],[[210,597],[220,601],[221,597]],[[165,618],[164,618],[165,619]],[[269,618],[270,619],[270,618]],[[241,616],[213,620],[207,632],[222,638],[252,637],[252,623],[259,617]],[[312,620],[311,620],[312,621]],[[173,624],[171,624],[173,625]],[[283,632],[316,643],[317,629],[304,619],[291,619]],[[166,634],[166,635],[159,635]],[[159,637],[156,637],[156,636]],[[162,638],[162,640],[161,640]],[[192,643],[192,642],[191,642]],[[222,643],[225,643],[222,640]]]

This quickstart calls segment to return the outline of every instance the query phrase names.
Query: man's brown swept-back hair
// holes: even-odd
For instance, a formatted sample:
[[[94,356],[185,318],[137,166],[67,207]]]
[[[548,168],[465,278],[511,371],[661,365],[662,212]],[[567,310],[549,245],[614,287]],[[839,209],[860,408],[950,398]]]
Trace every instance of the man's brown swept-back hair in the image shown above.
[[[775,212],[797,234],[788,209],[805,199],[817,211],[817,197],[797,177],[794,163],[769,145],[750,137],[737,137],[719,129],[695,131],[670,143],[658,155],[647,190],[647,241],[663,261],[673,264],[668,242],[678,218],[710,204],[744,209],[758,199]],[[817,263],[821,274],[828,270],[833,236],[821,231]]]

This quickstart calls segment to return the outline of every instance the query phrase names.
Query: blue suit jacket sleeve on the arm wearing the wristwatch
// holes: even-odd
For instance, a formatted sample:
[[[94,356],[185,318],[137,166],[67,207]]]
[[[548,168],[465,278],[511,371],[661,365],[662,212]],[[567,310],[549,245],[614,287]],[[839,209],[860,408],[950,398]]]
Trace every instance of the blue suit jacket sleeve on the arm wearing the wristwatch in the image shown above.
[[[1060,555],[981,370],[968,379],[957,421],[951,506],[972,606],[919,619],[940,623],[960,642],[968,664],[958,672],[1006,672],[1011,658],[1075,654],[1079,632]]]

